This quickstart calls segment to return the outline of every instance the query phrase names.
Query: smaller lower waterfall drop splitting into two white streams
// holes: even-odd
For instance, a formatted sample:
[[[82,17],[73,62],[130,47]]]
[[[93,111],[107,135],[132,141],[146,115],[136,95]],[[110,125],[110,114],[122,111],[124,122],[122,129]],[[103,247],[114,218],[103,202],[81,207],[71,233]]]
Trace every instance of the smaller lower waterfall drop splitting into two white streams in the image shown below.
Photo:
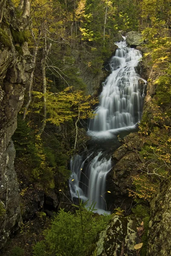
[[[83,161],[80,155],[76,155],[74,159],[71,160],[71,196],[72,198],[78,198],[79,194],[80,199],[83,201],[89,200],[87,207],[89,207],[93,202],[96,202],[95,208],[97,210],[95,212],[99,214],[103,214],[104,212],[107,213],[105,203],[105,180],[107,173],[110,172],[112,168],[111,158],[107,160],[105,157],[103,157],[102,151],[100,151],[99,154],[94,157],[84,169],[84,163],[86,160]]]

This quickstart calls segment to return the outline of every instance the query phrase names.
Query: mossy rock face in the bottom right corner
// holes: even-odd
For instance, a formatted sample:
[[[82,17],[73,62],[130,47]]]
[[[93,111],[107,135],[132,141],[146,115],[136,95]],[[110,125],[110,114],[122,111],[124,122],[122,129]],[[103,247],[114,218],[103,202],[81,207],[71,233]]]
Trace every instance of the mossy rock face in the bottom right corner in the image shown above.
[[[171,255],[171,176],[160,184],[151,201],[147,255]]]

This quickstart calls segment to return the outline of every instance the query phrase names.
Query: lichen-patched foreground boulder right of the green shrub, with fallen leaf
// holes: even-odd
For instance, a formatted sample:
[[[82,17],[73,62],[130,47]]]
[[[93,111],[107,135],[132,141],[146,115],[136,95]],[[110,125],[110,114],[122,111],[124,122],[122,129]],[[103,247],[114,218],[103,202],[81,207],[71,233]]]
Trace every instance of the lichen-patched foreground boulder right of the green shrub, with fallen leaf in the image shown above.
[[[137,223],[132,218],[113,216],[107,228],[96,237],[87,256],[134,256],[135,244],[140,239],[136,230]]]

